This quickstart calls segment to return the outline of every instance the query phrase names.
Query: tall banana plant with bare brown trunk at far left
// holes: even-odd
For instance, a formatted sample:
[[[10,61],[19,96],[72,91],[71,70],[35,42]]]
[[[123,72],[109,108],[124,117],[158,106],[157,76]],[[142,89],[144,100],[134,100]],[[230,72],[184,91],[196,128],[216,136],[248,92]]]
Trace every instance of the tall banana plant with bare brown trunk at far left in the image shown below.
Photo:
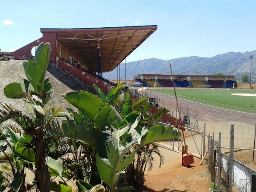
[[[13,82],[4,87],[6,97],[23,99],[32,118],[5,104],[1,105],[0,109],[0,123],[12,119],[32,137],[31,144],[34,146],[35,153],[35,180],[40,191],[50,191],[51,183],[43,138],[44,130],[51,124],[46,118],[44,106],[54,94],[49,79],[45,78],[50,52],[49,43],[39,44],[35,51],[35,61],[29,59],[23,62],[27,79],[19,77],[19,83]]]

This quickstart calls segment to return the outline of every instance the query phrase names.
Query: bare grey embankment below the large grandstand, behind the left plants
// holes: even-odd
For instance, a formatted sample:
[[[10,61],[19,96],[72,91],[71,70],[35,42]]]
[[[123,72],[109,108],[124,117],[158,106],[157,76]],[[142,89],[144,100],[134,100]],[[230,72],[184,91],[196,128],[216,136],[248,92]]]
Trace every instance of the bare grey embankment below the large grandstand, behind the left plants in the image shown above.
[[[0,61],[0,102],[10,104],[12,107],[19,110],[23,110],[24,108],[22,99],[8,99],[4,95],[3,89],[11,82],[18,82],[18,75],[26,78],[22,62],[23,61]],[[92,86],[56,68],[53,64],[49,64],[46,76],[49,77],[52,87],[55,90],[55,95],[47,106],[54,105],[57,108],[62,107],[63,110],[65,110],[65,108],[74,108],[65,99],[62,99],[62,95],[70,90],[88,90],[92,93],[96,93]]]

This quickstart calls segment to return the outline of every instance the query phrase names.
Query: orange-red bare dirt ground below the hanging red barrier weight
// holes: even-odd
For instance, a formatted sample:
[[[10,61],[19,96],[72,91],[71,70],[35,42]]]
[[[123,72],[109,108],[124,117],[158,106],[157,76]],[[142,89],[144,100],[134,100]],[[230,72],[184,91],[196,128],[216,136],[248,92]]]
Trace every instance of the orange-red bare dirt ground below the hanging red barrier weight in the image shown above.
[[[207,165],[199,165],[200,159],[189,167],[181,166],[180,162],[172,162],[174,169],[148,175],[145,177],[144,192],[207,192],[210,179]],[[176,167],[176,168],[175,168]]]

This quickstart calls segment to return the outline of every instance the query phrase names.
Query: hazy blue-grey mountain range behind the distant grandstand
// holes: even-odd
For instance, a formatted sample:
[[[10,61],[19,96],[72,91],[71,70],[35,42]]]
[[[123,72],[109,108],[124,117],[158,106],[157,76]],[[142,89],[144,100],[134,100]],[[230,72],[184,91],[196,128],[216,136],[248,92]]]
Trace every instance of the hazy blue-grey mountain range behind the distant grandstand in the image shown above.
[[[134,79],[134,75],[141,73],[170,74],[169,63],[175,75],[212,75],[223,73],[234,75],[241,80],[241,76],[248,75],[250,79],[250,55],[252,60],[252,82],[256,81],[256,50],[251,52],[228,52],[213,57],[183,57],[171,60],[149,58],[126,63],[126,79]],[[117,68],[109,73],[103,73],[106,79],[117,79]],[[125,64],[120,64],[120,79],[125,79]]]

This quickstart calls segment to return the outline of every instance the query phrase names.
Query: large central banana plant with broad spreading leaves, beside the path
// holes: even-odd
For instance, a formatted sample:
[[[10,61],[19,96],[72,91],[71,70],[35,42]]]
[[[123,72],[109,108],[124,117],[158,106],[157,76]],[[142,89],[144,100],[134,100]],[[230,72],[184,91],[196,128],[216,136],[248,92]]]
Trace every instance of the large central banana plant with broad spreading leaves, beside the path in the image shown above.
[[[110,186],[111,191],[133,189],[131,186],[124,186],[125,183],[119,183],[124,177],[125,168],[134,160],[136,149],[131,150],[133,145],[138,144],[142,147],[151,142],[180,137],[180,132],[170,126],[155,125],[149,130],[138,126],[141,115],[135,109],[143,106],[145,101],[143,99],[138,101],[133,106],[135,109],[124,118],[112,105],[86,91],[70,91],[64,99],[88,116],[102,130],[93,138],[98,153],[96,166],[101,179]],[[72,126],[72,123],[67,124]],[[68,129],[70,133],[61,130],[61,134],[65,136],[66,132],[67,136],[73,135],[73,138],[91,143],[87,137],[81,138],[81,135],[77,135],[79,129],[83,128]]]

